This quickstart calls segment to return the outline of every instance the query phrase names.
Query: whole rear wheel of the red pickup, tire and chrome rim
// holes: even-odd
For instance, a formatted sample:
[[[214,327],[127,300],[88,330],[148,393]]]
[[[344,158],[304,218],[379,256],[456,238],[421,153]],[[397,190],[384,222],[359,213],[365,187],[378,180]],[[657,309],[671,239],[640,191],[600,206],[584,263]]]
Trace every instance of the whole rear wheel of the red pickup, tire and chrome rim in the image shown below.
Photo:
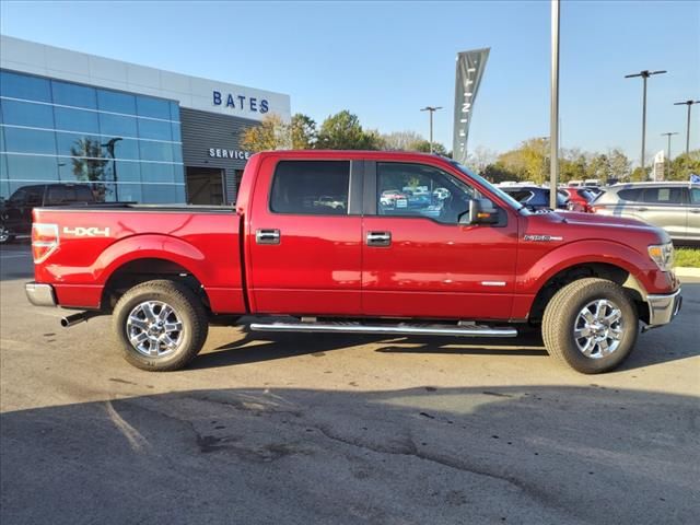
[[[201,350],[209,323],[199,298],[187,287],[154,280],[137,284],[117,302],[113,328],[124,358],[148,371],[178,370]]]

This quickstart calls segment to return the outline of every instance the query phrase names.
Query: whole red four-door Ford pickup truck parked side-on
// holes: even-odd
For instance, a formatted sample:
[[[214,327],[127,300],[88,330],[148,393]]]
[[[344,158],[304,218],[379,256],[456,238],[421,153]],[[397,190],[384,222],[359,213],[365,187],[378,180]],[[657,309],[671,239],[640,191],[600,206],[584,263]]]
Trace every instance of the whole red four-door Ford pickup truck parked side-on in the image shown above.
[[[427,197],[411,206],[382,199],[413,187]],[[125,358],[153,371],[185,366],[212,317],[234,314],[253,330],[390,336],[541,325],[550,354],[598,373],[681,305],[664,231],[533,212],[419,153],[262,152],[235,208],[38,208],[32,235],[28,300],[82,311],[65,326],[112,314]]]

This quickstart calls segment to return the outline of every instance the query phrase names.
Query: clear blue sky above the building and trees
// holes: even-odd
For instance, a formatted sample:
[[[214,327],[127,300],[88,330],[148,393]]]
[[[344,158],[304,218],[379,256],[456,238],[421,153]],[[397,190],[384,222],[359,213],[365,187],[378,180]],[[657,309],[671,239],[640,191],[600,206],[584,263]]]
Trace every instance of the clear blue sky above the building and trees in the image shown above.
[[[550,2],[0,2],[0,32],[185,74],[287,93],[320,122],[349,109],[368,129],[428,136],[452,149],[455,57],[490,47],[469,150],[504,152],[549,135]],[[700,100],[700,2],[563,0],[562,148],[621,148],[639,161],[640,70],[649,80],[646,151],[685,149]],[[0,49],[0,52],[2,50]],[[700,104],[690,148],[700,148]],[[693,128],[695,127],[695,128]]]

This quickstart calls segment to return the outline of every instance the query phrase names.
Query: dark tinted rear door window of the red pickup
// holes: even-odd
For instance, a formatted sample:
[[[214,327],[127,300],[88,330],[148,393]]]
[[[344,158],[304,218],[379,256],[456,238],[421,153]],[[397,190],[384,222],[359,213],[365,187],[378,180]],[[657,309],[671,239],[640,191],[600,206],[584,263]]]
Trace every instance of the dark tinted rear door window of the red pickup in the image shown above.
[[[305,215],[347,215],[350,161],[282,161],[277,165],[270,210]]]

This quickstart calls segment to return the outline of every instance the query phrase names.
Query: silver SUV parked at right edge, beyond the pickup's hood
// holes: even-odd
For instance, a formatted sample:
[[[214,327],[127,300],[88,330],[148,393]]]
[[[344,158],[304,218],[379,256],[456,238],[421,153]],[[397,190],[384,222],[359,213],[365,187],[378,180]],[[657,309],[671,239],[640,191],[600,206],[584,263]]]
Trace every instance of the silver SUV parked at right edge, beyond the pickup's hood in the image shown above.
[[[616,184],[605,188],[591,206],[595,213],[663,228],[674,241],[700,242],[700,184]]]

